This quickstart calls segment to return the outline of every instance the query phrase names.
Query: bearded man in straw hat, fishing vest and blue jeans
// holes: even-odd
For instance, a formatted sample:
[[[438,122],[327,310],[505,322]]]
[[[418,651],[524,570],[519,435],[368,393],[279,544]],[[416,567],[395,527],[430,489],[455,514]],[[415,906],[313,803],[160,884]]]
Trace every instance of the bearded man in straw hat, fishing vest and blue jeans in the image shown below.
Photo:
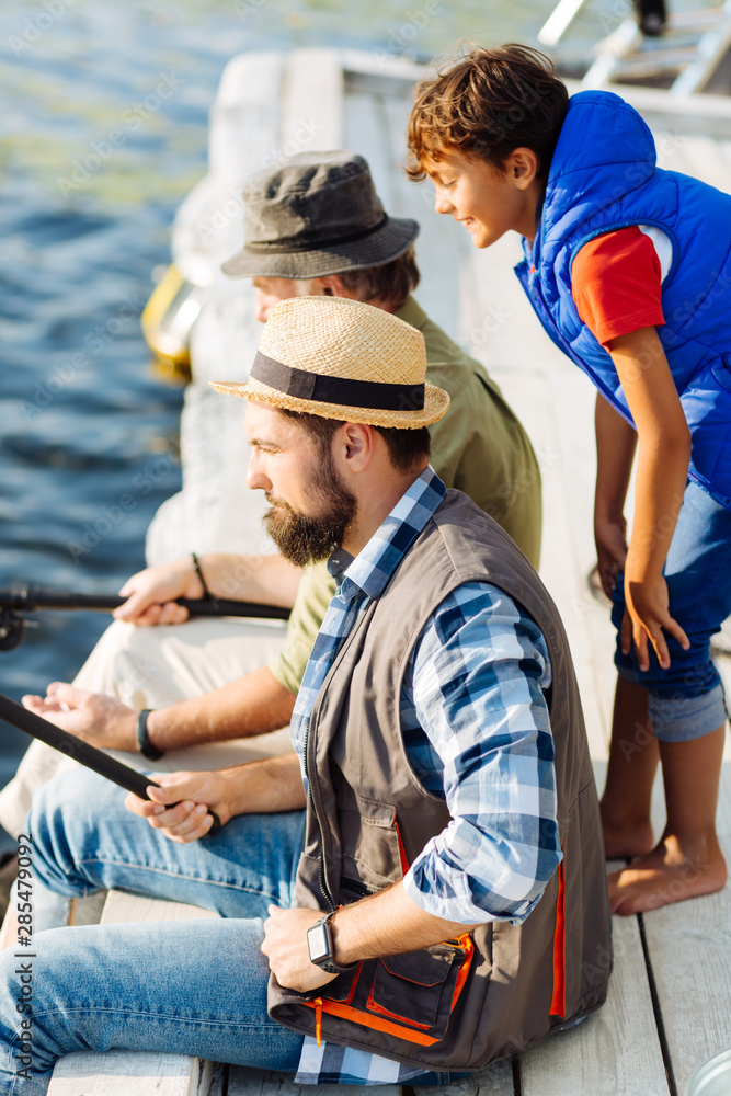
[[[602,1004],[609,916],[568,642],[523,553],[429,465],[449,397],[425,364],[396,317],[307,297],[273,310],[245,385],[215,386],[250,401],[249,484],[283,555],[329,557],[336,581],[295,754],[162,777],[153,802],[129,802],[151,826],[130,814],[106,833],[113,856],[90,855],[99,835],[78,824],[103,781],[69,777],[70,808],[47,786],[36,879],[93,889],[136,826],[151,864],[228,917],[37,936],[28,1096],[81,1048],[424,1081]],[[224,827],[197,841],[208,808]],[[15,968],[5,952],[3,1094]]]

